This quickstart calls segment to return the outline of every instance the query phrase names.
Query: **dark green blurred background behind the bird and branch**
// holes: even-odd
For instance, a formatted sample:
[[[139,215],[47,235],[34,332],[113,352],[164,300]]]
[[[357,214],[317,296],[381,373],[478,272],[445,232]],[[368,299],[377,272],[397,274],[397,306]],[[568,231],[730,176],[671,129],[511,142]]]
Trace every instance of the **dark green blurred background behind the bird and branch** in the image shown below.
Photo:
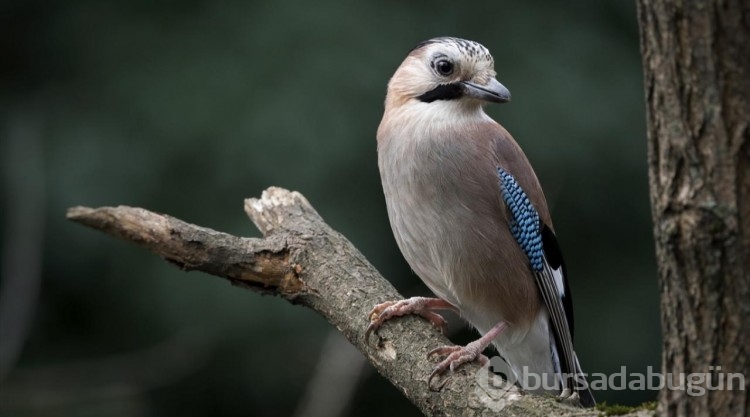
[[[0,6],[0,414],[418,415],[323,319],[65,220],[126,204],[257,236],[302,192],[405,295],[375,131],[419,41],[492,51],[488,113],[534,164],[586,372],[659,369],[644,98],[630,0],[16,1]],[[453,340],[474,335],[454,318]],[[635,404],[653,391],[611,390]]]

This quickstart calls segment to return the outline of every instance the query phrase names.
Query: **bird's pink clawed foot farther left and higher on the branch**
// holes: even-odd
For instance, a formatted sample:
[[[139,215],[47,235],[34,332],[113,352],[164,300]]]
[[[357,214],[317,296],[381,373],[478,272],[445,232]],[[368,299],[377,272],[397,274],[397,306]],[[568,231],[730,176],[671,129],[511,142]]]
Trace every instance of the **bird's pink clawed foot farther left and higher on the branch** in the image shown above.
[[[418,314],[432,323],[433,326],[445,333],[447,322],[440,314],[433,310],[453,310],[456,307],[440,298],[411,297],[406,300],[386,301],[378,304],[370,311],[370,325],[365,331],[365,340],[370,339],[370,334],[377,330],[386,320],[392,317],[405,316],[407,314]]]

